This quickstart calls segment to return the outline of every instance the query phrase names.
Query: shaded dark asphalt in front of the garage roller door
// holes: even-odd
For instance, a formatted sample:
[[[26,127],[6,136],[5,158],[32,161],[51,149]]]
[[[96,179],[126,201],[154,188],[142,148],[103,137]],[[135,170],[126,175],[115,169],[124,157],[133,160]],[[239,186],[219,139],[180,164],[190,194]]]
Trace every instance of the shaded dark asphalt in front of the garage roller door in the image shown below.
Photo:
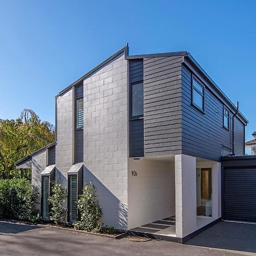
[[[186,244],[256,253],[256,225],[220,221]]]

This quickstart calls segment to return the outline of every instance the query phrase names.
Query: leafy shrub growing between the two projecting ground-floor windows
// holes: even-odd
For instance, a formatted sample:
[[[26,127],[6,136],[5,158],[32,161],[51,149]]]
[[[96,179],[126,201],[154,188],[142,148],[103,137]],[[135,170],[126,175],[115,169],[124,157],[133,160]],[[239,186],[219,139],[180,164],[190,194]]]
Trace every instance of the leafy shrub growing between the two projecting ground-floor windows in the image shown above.
[[[63,207],[63,203],[67,196],[67,188],[63,188],[60,181],[52,181],[52,195],[49,196],[51,204],[49,219],[56,225],[65,219],[67,209]]]

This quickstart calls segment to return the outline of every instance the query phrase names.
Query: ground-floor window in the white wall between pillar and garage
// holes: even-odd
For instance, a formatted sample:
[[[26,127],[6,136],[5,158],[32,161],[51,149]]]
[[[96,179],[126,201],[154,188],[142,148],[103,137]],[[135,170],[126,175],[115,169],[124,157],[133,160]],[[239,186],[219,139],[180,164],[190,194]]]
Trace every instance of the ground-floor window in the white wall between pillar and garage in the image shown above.
[[[212,217],[212,168],[196,168],[197,216]]]

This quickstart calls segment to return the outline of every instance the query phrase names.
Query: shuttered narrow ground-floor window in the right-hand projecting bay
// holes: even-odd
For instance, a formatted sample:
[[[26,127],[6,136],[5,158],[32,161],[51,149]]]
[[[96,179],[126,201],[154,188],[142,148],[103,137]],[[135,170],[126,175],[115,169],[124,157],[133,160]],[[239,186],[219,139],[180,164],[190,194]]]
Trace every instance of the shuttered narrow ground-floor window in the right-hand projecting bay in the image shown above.
[[[77,175],[68,175],[69,221],[77,220]]]

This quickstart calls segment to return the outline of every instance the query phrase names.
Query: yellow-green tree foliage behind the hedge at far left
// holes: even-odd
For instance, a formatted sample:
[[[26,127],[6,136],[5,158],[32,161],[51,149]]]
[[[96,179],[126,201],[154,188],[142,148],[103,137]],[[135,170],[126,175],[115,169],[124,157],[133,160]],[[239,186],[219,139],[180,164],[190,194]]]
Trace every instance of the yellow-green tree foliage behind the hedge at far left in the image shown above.
[[[0,178],[17,177],[14,163],[55,140],[54,127],[30,109],[20,118],[0,119]]]

